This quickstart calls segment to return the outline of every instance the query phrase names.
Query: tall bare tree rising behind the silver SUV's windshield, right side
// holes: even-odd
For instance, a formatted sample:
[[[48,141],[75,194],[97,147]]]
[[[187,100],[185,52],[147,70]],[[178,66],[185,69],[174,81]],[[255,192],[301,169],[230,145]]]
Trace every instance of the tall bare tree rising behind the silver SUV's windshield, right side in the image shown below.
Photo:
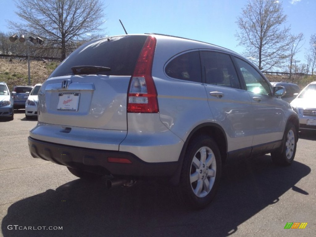
[[[276,0],[248,0],[237,18],[239,45],[246,48],[245,56],[260,70],[284,65],[288,57],[289,27],[283,26],[282,2]]]

